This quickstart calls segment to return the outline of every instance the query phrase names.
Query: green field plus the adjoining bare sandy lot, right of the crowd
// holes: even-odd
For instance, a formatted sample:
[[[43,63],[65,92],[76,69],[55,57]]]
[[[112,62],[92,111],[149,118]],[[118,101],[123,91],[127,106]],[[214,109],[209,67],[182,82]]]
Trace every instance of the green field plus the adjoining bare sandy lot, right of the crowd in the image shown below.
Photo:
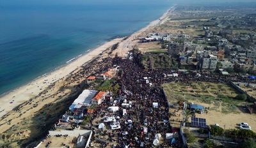
[[[218,123],[222,128],[237,128],[239,122],[248,122],[256,131],[256,115],[248,114],[244,109],[244,101],[234,100],[238,94],[225,84],[209,82],[193,82],[191,85],[171,82],[163,85],[164,92],[170,103],[188,100],[209,108],[207,114],[196,114],[205,118],[207,124]]]

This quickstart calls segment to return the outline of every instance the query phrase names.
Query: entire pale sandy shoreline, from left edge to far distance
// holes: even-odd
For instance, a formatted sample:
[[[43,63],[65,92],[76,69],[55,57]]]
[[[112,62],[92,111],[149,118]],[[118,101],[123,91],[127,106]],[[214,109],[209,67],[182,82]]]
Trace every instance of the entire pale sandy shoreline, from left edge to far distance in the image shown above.
[[[110,41],[105,41],[102,45],[95,47],[93,49],[88,49],[81,56],[76,56],[73,59],[70,59],[69,63],[66,61],[66,64],[63,64],[59,68],[55,68],[49,73],[45,73],[44,75],[35,78],[16,89],[13,89],[9,93],[0,95],[1,107],[0,107],[0,117],[3,117],[8,112],[12,111],[13,108],[19,106],[25,101],[34,98],[38,94],[42,93],[47,87],[49,87],[54,82],[58,82],[62,78],[67,77],[73,71],[78,70],[84,64],[91,61],[93,58],[99,56],[102,52],[104,52],[107,48],[111,47],[115,43],[119,43],[116,51],[114,50],[113,54],[118,54],[119,56],[124,57],[127,54],[128,50],[133,48],[133,45],[136,43],[136,38],[138,36],[147,31],[148,29],[161,24],[166,18],[168,18],[169,14],[172,13],[172,10],[175,8],[175,5],[168,9],[161,17],[157,20],[153,20],[149,22],[149,24],[140,30],[132,33],[131,35],[123,38],[115,38]],[[125,39],[125,40],[124,40]],[[14,101],[13,101],[14,100]],[[12,102],[12,103],[11,103]]]

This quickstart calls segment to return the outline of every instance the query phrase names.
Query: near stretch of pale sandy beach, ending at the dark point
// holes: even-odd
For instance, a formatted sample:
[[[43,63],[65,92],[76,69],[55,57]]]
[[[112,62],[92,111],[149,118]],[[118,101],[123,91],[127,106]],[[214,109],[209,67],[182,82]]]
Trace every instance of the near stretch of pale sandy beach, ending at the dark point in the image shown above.
[[[30,98],[35,97],[46,87],[51,85],[52,83],[60,80],[61,78],[67,76],[72,73],[72,71],[82,66],[84,63],[93,59],[93,57],[98,56],[101,52],[106,50],[106,48],[111,47],[113,44],[122,41],[122,38],[116,38],[114,40],[108,41],[103,45],[95,48],[94,50],[90,50],[88,54],[84,54],[83,56],[78,57],[76,60],[68,63],[67,65],[59,68],[56,71],[52,71],[51,73],[47,73],[46,75],[33,80],[29,84],[26,84],[18,89],[13,90],[12,92],[1,96],[0,100],[0,117],[4,114],[8,113],[12,108],[16,107],[20,103],[24,101],[28,101]]]

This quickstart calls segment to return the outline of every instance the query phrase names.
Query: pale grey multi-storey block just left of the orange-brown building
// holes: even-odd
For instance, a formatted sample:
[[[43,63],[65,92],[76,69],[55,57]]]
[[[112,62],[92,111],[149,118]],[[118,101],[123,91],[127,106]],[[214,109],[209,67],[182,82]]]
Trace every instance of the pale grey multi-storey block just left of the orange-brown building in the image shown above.
[[[217,56],[209,54],[206,57],[200,58],[200,70],[215,70],[217,67]]]

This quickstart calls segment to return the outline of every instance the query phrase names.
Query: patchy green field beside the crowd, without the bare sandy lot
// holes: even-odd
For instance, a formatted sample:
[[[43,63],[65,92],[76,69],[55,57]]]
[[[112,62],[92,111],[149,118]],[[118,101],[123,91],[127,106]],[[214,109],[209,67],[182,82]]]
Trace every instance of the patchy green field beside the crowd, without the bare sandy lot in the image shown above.
[[[234,100],[234,97],[239,93],[225,84],[193,82],[191,85],[186,85],[181,82],[171,82],[163,84],[163,89],[168,100],[172,103],[184,100],[206,103],[211,106],[210,110],[221,112],[234,112],[237,107],[245,103]]]

